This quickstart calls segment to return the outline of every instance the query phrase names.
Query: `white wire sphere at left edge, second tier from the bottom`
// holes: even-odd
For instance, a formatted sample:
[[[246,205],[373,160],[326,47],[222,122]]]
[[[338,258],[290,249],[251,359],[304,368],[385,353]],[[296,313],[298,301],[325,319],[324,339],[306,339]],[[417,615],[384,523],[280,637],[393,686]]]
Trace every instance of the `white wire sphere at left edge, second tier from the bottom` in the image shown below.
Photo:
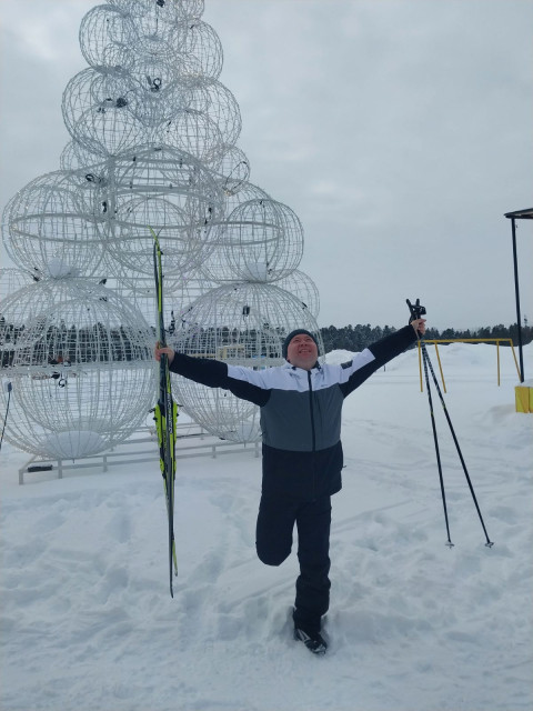
[[[22,269],[53,277],[92,274],[103,256],[101,186],[83,172],[36,178],[8,203],[6,249]]]

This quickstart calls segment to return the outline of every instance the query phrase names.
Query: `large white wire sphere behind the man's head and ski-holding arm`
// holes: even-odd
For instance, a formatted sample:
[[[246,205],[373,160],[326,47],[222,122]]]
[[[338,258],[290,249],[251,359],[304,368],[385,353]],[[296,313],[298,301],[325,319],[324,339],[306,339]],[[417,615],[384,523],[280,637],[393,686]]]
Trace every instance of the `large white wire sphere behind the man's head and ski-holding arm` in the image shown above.
[[[272,284],[227,284],[185,310],[169,342],[188,356],[261,370],[283,363],[283,340],[296,328],[314,333],[323,352],[316,321],[296,297]],[[257,405],[229,391],[172,378],[178,401],[208,432],[235,442],[258,441]]]

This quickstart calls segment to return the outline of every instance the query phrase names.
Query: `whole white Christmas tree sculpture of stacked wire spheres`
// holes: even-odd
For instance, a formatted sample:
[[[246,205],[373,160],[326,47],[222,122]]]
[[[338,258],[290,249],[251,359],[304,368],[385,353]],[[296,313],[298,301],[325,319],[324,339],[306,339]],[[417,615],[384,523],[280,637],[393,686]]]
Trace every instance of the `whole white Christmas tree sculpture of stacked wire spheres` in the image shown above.
[[[72,140],[61,170],[4,211],[8,253],[24,270],[0,273],[14,411],[6,437],[23,450],[90,455],[144,421],[155,375],[149,228],[163,251],[164,320],[178,350],[262,369],[282,363],[295,328],[323,350],[318,291],[298,271],[302,226],[250,183],[239,104],[219,80],[222,44],[203,9],[203,0],[108,0],[81,22],[89,67],[63,92]],[[208,431],[259,439],[255,405],[175,384]]]

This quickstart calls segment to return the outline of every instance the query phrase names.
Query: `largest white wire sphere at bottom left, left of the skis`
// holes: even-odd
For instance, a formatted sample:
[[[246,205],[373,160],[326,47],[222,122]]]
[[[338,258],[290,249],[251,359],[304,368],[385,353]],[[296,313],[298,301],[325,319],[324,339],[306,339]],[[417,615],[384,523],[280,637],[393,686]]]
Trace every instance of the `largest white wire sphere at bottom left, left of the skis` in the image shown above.
[[[82,279],[23,287],[1,304],[0,343],[14,410],[6,439],[20,449],[87,457],[144,421],[155,388],[153,333],[114,291]]]

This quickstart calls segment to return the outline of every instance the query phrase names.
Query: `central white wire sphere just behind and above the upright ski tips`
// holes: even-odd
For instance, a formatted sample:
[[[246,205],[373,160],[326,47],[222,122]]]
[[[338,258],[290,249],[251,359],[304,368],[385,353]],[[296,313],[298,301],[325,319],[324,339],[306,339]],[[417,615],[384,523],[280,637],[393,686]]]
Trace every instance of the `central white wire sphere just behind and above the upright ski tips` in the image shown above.
[[[112,163],[107,247],[128,269],[153,276],[151,227],[165,256],[165,272],[197,267],[211,248],[211,224],[222,194],[192,156],[168,147],[139,147]]]

